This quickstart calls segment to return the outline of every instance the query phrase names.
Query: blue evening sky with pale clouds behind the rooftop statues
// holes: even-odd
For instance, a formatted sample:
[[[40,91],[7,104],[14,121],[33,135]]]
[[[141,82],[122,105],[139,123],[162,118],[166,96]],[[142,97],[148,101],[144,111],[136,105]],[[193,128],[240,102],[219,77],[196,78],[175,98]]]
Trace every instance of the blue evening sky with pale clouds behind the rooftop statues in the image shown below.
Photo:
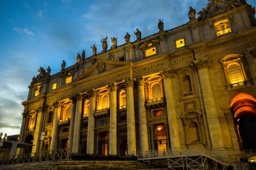
[[[102,50],[100,39],[118,38],[125,43],[126,32],[131,41],[138,28],[142,38],[164,29],[172,29],[189,21],[189,6],[196,12],[205,8],[207,0],[1,0],[0,1],[0,132],[19,134],[31,78],[39,67],[50,66],[58,73],[61,62],[66,67],[76,62],[78,52],[92,55],[91,45]],[[255,0],[248,4],[256,6]],[[197,17],[197,16],[196,16]],[[108,49],[109,49],[108,47]]]

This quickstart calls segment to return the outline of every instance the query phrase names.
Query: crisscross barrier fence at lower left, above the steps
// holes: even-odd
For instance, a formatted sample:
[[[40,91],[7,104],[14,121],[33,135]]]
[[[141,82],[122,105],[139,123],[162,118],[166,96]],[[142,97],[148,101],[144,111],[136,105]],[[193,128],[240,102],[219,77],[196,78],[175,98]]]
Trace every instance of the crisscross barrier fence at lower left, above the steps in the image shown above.
[[[0,157],[0,165],[4,164],[19,164],[26,162],[40,162],[45,160],[70,160],[71,155],[67,149],[51,150],[40,153],[26,153],[23,155],[11,155]]]

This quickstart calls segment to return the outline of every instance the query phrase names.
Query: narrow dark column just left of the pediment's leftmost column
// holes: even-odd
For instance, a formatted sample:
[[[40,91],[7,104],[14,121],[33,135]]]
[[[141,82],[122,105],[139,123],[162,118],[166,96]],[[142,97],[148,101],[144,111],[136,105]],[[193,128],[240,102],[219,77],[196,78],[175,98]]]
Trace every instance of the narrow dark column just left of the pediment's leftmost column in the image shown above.
[[[72,100],[72,112],[70,117],[69,134],[68,134],[68,151],[72,153],[73,137],[74,137],[74,125],[76,117],[76,96],[70,97]]]

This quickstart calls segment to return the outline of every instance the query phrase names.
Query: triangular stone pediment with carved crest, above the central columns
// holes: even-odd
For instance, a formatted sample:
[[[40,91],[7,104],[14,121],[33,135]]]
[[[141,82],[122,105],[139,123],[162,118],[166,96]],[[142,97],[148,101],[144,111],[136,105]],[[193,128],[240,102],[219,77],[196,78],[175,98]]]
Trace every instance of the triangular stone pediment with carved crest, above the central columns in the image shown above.
[[[78,76],[75,81],[83,80],[91,76],[96,76],[102,73],[106,73],[114,69],[118,71],[118,68],[123,69],[124,66],[132,66],[132,62],[98,59],[95,63],[92,64],[92,66],[88,67],[84,71],[84,73]]]

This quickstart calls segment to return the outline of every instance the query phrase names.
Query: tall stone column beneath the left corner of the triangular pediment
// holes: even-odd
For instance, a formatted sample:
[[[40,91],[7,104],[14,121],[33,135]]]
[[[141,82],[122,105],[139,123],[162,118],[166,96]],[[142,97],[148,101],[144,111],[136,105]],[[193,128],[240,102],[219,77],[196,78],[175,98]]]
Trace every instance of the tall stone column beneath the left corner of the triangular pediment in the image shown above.
[[[73,153],[79,153],[79,143],[80,143],[80,129],[81,129],[81,118],[82,118],[82,96],[77,94],[76,96],[76,118],[74,125],[74,137],[73,137]]]

